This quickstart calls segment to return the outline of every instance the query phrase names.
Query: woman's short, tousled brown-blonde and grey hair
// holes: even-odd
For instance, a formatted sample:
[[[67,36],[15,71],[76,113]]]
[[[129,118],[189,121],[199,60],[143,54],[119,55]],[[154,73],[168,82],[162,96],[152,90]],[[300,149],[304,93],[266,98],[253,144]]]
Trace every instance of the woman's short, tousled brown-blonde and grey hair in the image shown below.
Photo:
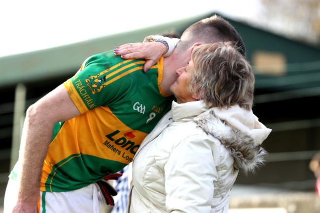
[[[210,107],[238,104],[250,110],[255,77],[250,63],[232,42],[203,44],[192,51],[189,89]]]

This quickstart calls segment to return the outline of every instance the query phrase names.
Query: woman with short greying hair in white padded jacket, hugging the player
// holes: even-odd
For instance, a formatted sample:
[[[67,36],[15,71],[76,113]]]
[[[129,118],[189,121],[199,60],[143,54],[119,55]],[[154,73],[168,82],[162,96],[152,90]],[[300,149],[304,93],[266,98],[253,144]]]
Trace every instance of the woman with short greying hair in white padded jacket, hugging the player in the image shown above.
[[[177,102],[132,167],[129,213],[226,213],[238,172],[253,172],[270,129],[258,122],[254,74],[230,42],[195,47],[170,87]]]

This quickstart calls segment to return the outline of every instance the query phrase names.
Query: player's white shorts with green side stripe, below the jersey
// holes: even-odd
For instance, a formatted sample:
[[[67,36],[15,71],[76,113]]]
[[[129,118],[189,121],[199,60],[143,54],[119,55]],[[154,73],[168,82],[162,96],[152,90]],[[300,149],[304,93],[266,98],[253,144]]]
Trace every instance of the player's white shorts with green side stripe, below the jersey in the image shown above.
[[[3,213],[11,213],[17,201],[18,184],[9,179]],[[38,213],[100,213],[105,205],[96,184],[67,192],[40,192]]]

